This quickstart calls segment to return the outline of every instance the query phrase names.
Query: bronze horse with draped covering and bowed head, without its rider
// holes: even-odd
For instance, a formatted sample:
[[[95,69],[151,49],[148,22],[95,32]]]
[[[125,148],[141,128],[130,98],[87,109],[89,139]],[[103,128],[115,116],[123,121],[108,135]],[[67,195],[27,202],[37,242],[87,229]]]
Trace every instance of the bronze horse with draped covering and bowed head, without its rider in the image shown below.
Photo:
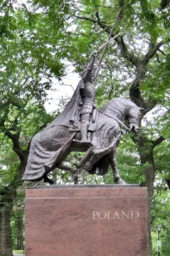
[[[61,116],[64,119],[64,111]],[[53,184],[47,174],[57,167],[72,172],[74,183],[77,184],[79,168],[104,175],[111,166],[114,182],[126,184],[117,169],[116,149],[121,140],[122,127],[138,133],[141,109],[125,98],[110,100],[101,110],[95,111],[95,121],[90,121],[87,133],[89,146],[77,143],[81,141],[80,129],[67,125],[67,122],[63,125],[61,116],[58,115],[44,130],[33,136],[23,180],[40,181],[43,178],[44,182]],[[129,128],[124,125],[125,120]],[[71,151],[86,151],[77,169],[63,163]]]

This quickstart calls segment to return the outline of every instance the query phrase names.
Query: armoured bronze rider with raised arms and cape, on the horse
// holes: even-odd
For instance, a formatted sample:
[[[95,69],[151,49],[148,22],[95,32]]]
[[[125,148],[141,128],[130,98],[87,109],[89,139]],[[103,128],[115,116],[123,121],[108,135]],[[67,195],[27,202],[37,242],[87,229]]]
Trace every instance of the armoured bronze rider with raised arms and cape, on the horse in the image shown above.
[[[78,128],[79,121],[81,121],[80,131],[82,141],[88,142],[89,145],[90,143],[87,141],[87,128],[89,126],[90,115],[92,115],[92,110],[95,108],[95,88],[92,82],[95,80],[99,70],[98,65],[95,65],[96,58],[97,52],[94,52],[90,63],[84,69],[82,79],[77,84],[77,89],[74,91],[71,100],[67,103],[62,113],[57,116],[57,119],[53,120],[46,128],[49,129],[54,125],[60,124],[75,131]],[[77,143],[79,142],[77,141]]]

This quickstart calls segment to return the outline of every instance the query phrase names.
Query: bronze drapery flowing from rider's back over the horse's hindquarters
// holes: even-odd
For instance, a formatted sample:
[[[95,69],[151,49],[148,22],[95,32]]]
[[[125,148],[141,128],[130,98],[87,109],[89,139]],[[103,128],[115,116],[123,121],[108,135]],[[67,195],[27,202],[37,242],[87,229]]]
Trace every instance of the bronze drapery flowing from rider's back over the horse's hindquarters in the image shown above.
[[[49,168],[51,169],[55,165],[58,156],[61,155],[62,158],[65,156],[63,151],[67,151],[72,138],[76,134],[75,131],[70,136],[67,127],[76,128],[78,125],[79,111],[82,104],[80,90],[83,86],[81,79],[62,113],[57,115],[46,128],[33,136],[23,180],[40,179]]]

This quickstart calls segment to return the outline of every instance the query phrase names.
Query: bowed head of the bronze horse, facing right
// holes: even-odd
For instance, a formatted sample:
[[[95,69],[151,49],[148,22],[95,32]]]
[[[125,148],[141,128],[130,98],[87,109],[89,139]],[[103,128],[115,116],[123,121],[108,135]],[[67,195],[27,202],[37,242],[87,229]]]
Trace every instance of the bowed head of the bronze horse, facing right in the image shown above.
[[[142,115],[142,109],[138,108],[138,105],[134,104],[131,101],[131,104],[128,106],[127,110],[127,119],[129,123],[129,129],[134,133],[138,133],[139,124]]]

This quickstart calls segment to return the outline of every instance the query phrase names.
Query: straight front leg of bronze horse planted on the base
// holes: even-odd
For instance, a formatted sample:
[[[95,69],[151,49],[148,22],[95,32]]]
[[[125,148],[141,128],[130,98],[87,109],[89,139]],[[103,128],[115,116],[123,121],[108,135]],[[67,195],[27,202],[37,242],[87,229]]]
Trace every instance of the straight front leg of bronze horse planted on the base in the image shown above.
[[[117,182],[118,184],[125,185],[126,182],[122,180],[120,177],[120,174],[118,172],[117,168],[117,153],[116,153],[116,146],[113,147],[112,152],[109,153],[109,161],[110,165],[112,167],[112,172],[113,172],[113,180],[114,182]]]

